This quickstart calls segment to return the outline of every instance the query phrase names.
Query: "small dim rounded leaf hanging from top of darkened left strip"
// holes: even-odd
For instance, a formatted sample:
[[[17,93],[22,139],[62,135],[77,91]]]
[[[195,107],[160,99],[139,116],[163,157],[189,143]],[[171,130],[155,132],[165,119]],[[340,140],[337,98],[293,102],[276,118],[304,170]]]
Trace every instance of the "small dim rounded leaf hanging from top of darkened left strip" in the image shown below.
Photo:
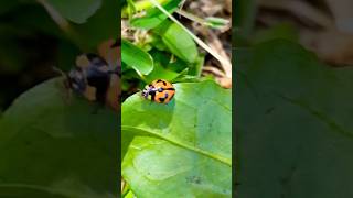
[[[46,0],[64,18],[75,23],[85,23],[100,8],[101,0]],[[118,9],[118,8],[117,8]]]

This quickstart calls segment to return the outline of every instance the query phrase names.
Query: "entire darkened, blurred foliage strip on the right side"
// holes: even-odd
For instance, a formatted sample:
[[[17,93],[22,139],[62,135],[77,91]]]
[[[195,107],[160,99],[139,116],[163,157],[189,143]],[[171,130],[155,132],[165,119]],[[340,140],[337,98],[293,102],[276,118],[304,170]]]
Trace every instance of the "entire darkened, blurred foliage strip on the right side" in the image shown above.
[[[238,197],[352,197],[352,1],[239,0]]]

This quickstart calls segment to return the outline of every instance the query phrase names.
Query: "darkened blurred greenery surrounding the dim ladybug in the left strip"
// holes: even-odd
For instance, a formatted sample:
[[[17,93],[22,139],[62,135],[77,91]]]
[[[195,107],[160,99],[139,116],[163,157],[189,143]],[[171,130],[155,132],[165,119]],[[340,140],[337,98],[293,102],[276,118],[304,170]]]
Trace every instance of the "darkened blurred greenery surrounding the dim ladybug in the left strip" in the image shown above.
[[[57,67],[119,35],[116,0],[0,2],[0,197],[116,197],[117,113],[68,97]]]

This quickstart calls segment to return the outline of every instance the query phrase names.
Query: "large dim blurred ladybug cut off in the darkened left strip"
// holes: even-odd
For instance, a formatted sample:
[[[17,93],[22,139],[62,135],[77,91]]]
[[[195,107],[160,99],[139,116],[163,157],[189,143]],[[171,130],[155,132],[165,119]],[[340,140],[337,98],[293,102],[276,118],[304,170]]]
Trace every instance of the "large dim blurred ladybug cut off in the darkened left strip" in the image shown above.
[[[114,52],[116,47],[116,43],[110,46]],[[76,57],[75,66],[66,75],[66,85],[89,101],[106,103],[118,110],[121,74],[120,63],[114,63],[117,64],[108,63],[98,54],[82,54]]]

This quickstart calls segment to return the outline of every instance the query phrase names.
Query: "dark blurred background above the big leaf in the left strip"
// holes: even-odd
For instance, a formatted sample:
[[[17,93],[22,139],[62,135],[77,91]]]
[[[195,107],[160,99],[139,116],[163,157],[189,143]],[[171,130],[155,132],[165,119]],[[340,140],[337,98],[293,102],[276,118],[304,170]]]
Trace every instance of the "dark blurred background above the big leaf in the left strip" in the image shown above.
[[[116,38],[120,22],[115,0],[0,2],[0,109],[24,90],[67,72],[75,57]]]

